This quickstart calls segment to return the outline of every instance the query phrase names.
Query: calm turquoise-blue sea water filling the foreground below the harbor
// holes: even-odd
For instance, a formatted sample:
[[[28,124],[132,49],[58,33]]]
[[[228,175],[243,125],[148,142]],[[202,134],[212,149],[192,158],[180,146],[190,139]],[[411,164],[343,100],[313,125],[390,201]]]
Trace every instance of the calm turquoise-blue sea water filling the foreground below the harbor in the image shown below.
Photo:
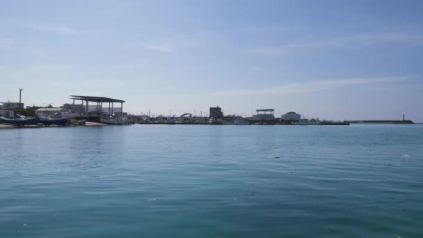
[[[0,129],[0,237],[423,237],[423,125]]]

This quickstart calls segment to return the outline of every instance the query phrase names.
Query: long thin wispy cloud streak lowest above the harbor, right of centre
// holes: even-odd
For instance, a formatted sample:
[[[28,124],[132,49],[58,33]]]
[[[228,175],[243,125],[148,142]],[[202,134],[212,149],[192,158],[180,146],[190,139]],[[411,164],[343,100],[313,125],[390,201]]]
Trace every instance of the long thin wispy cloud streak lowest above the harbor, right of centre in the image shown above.
[[[354,78],[354,79],[336,79],[324,81],[312,81],[298,84],[285,84],[273,88],[264,89],[239,89],[225,90],[211,93],[202,93],[204,97],[238,97],[250,95],[273,95],[273,94],[289,94],[289,93],[309,93],[318,90],[328,90],[332,88],[340,88],[344,86],[358,84],[384,84],[392,82],[400,82],[409,80],[407,77],[388,77],[388,78]]]

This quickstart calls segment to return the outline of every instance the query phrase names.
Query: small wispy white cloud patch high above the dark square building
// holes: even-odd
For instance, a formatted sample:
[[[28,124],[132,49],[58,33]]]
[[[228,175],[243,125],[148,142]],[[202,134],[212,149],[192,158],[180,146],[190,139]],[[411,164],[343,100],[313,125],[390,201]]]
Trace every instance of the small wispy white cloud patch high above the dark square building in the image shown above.
[[[200,31],[192,35],[174,35],[150,42],[141,42],[140,47],[161,53],[172,53],[180,49],[201,45],[212,38],[214,33],[210,31]]]

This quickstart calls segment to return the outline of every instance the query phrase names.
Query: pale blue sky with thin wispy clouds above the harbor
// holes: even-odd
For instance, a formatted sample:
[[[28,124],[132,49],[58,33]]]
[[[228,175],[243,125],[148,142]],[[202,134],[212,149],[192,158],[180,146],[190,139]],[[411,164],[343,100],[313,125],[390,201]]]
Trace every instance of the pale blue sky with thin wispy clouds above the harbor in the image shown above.
[[[423,1],[1,1],[0,102],[423,122]]]

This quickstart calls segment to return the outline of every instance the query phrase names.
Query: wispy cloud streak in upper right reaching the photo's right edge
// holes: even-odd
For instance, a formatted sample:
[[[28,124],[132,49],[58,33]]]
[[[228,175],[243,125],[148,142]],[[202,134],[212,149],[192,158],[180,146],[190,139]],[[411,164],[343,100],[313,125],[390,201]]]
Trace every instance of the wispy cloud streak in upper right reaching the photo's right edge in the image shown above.
[[[369,45],[379,45],[386,43],[401,43],[407,45],[423,45],[422,35],[409,33],[367,33],[349,35],[346,37],[330,38],[326,40],[314,40],[310,42],[280,45],[276,47],[258,47],[250,49],[255,54],[267,56],[280,56],[293,51],[310,49],[330,49],[330,48],[356,48]]]

